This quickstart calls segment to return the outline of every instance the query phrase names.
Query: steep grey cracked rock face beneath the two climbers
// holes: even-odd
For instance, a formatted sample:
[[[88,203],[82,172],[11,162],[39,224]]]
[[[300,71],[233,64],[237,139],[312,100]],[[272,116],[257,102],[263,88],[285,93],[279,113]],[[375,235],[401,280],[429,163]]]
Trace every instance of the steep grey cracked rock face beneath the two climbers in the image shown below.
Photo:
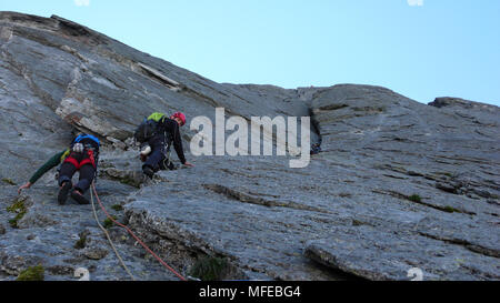
[[[196,168],[142,179],[130,138],[144,117],[181,110],[189,123],[216,108],[246,120],[310,115],[322,153],[304,169],[289,156],[194,158],[196,131],[184,128]],[[424,280],[500,279],[493,105],[426,105],[369,85],[216,83],[59,17],[0,12],[0,279],[39,264],[47,280],[76,280],[78,267],[91,280],[129,279],[91,206],[57,205],[54,171],[9,223],[20,213],[16,185],[76,130],[104,142],[104,205],[119,205],[112,214],[183,275],[213,256],[230,264],[227,279],[409,280],[412,267]],[[124,231],[110,234],[138,280],[177,279]]]

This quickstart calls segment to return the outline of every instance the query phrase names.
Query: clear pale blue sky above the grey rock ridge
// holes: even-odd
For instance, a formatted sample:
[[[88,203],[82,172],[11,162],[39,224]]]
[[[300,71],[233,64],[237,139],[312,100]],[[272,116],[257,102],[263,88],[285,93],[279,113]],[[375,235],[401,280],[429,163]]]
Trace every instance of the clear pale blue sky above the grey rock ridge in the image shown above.
[[[0,0],[217,82],[387,87],[500,105],[498,0]]]

